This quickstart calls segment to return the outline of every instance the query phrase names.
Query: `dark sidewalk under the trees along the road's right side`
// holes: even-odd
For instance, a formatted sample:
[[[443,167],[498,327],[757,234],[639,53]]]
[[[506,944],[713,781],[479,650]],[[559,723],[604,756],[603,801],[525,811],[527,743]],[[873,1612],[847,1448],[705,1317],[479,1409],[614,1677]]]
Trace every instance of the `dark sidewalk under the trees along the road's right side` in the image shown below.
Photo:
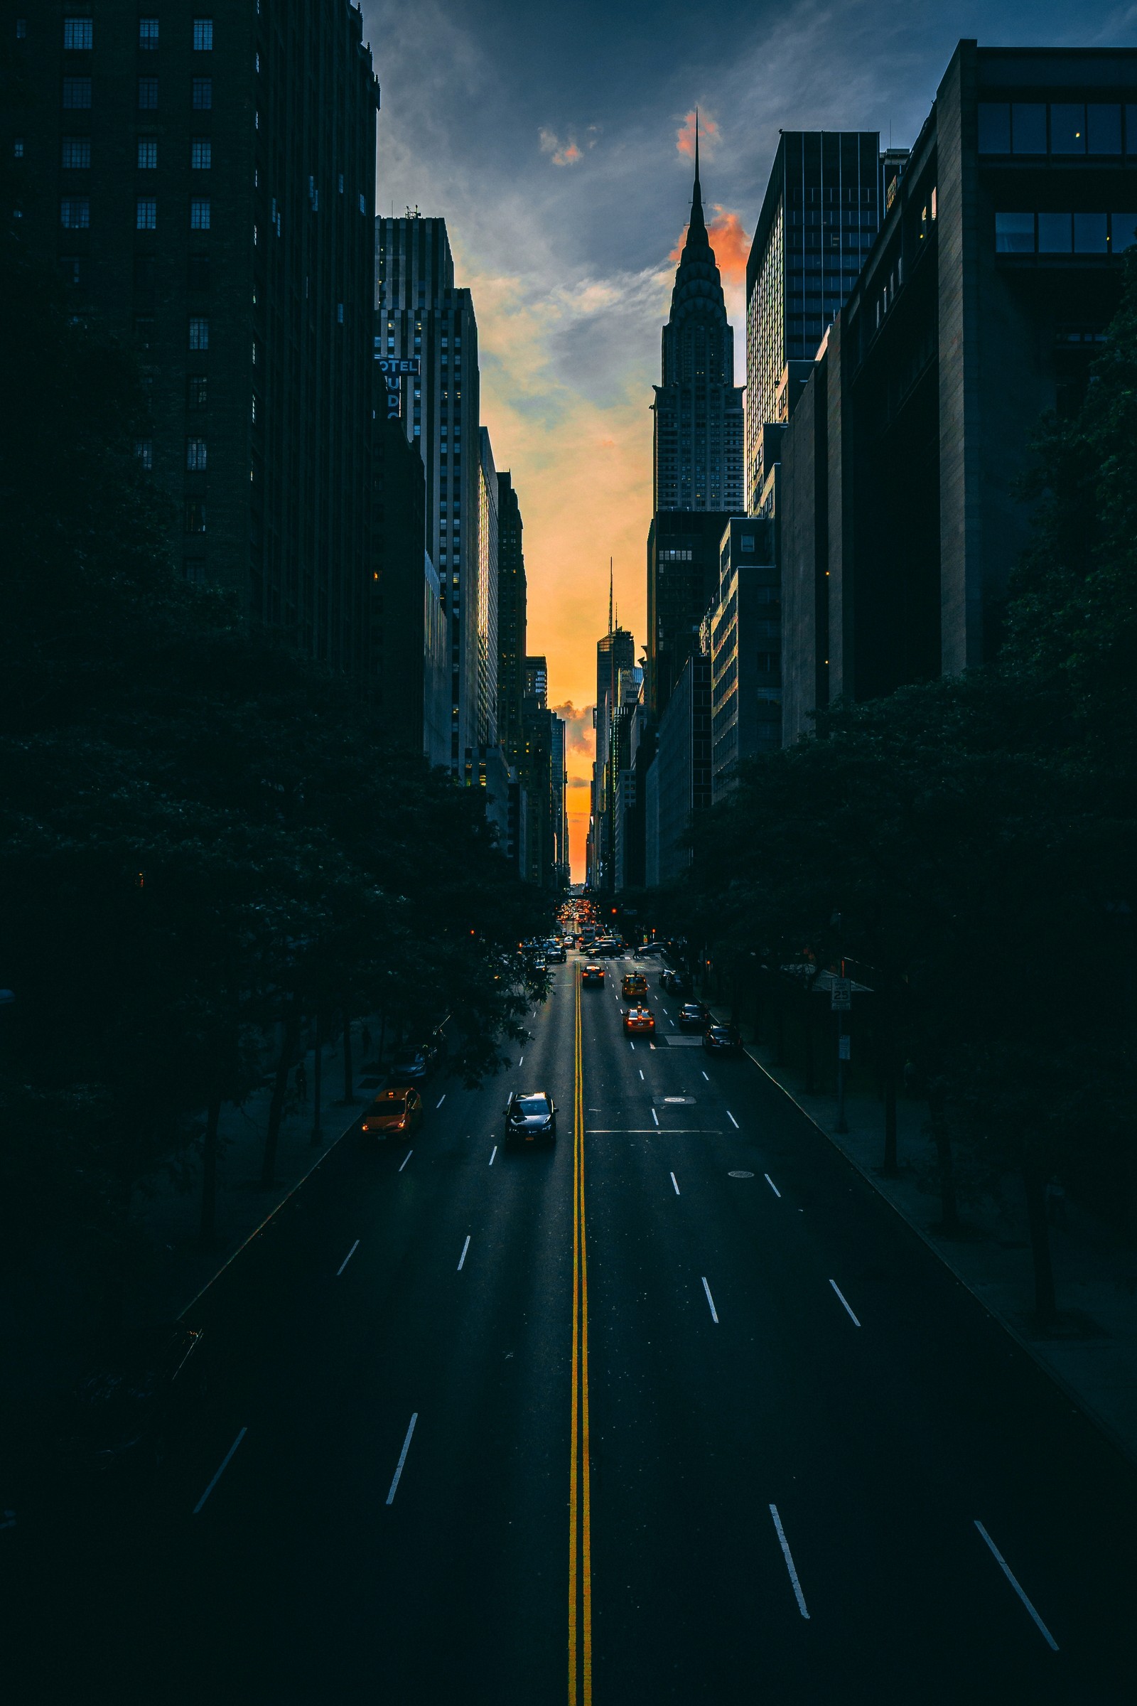
[[[726,1018],[724,1008],[711,1007]],[[745,1036],[745,1030],[743,1030]],[[747,1042],[747,1054],[902,1215],[939,1259],[1064,1390],[1137,1462],[1137,1249],[1069,1199],[1050,1228],[1059,1322],[1033,1326],[1035,1276],[1021,1182],[1006,1181],[1006,1201],[961,1203],[965,1235],[934,1232],[939,1196],[924,1134],[926,1104],[897,1099],[900,1175],[881,1174],[885,1107],[854,1087],[846,1097],[847,1136],[834,1131],[837,1102],[810,1095],[803,1080],[774,1066],[774,1049]]]

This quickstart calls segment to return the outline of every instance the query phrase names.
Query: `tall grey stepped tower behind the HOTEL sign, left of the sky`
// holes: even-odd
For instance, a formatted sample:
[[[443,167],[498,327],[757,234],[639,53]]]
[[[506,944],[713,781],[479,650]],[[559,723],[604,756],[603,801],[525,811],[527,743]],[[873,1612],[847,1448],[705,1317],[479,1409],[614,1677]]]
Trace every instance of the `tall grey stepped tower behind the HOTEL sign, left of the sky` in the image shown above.
[[[469,290],[453,283],[445,220],[375,220],[375,355],[421,362],[419,377],[404,380],[402,408],[407,438],[419,445],[426,469],[426,549],[438,570],[450,640],[450,764],[462,775],[482,740],[479,706],[486,727],[482,459],[477,322]],[[482,616],[488,623],[488,601]]]

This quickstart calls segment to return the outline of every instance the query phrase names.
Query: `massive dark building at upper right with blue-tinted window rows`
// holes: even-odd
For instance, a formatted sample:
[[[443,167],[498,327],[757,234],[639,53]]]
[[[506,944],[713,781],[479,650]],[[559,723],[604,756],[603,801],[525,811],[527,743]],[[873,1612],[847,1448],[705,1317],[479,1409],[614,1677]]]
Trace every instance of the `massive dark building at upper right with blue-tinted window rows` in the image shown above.
[[[999,647],[1137,229],[1137,49],[961,41],[782,449],[786,737]]]

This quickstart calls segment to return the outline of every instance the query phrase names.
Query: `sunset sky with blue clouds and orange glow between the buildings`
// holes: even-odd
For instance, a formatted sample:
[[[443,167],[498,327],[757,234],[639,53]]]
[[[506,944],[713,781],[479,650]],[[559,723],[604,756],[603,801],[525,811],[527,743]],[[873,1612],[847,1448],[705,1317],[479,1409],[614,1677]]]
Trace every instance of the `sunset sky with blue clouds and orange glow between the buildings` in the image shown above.
[[[1132,44],[1137,5],[363,0],[363,15],[377,208],[443,215],[474,293],[482,420],[525,522],[528,650],[569,720],[580,880],[609,556],[620,621],[638,648],[644,635],[649,403],[694,107],[742,382],[747,249],[779,128],[910,143],[958,38]]]

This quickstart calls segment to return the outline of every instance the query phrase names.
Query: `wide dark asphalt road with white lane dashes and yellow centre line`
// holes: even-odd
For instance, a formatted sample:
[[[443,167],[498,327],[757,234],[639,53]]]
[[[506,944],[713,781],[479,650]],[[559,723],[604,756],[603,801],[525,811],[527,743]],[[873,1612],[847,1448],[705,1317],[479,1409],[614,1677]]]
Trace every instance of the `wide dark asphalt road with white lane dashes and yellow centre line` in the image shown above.
[[[145,1508],[17,1530],[10,1697],[1132,1699],[1130,1465],[655,969],[624,1039],[619,971],[230,1264]]]

